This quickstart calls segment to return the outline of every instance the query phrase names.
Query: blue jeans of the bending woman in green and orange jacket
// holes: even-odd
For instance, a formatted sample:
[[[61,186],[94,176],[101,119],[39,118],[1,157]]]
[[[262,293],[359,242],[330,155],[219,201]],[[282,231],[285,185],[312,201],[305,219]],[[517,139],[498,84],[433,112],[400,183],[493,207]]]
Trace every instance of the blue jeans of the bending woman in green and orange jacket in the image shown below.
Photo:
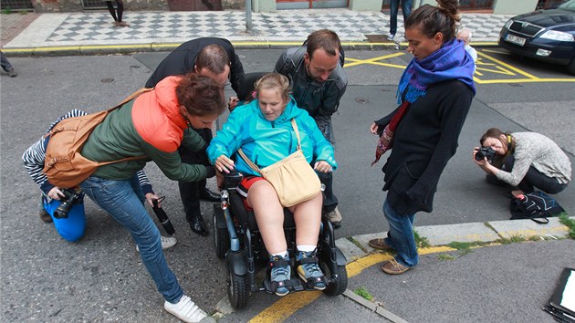
[[[165,300],[176,303],[183,296],[182,287],[163,255],[160,231],[146,212],[136,176],[125,181],[91,176],[81,182],[80,187],[99,207],[130,231],[158,291]]]

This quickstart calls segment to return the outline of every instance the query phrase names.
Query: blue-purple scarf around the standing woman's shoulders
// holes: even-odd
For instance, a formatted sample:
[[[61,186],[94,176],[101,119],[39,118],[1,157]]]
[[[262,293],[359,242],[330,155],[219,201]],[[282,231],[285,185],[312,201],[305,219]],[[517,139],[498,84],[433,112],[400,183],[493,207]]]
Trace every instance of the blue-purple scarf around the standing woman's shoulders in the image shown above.
[[[400,79],[397,103],[403,103],[403,93],[404,99],[413,103],[425,96],[431,85],[449,79],[464,82],[475,95],[474,67],[473,58],[465,52],[464,43],[455,39],[448,41],[428,57],[422,60],[412,59]]]

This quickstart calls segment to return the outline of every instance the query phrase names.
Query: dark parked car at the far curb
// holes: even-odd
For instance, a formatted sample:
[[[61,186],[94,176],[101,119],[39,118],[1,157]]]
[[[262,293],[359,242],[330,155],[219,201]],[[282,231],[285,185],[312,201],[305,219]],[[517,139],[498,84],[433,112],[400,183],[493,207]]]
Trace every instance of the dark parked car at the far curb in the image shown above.
[[[509,19],[499,46],[523,57],[566,65],[575,74],[575,0]]]

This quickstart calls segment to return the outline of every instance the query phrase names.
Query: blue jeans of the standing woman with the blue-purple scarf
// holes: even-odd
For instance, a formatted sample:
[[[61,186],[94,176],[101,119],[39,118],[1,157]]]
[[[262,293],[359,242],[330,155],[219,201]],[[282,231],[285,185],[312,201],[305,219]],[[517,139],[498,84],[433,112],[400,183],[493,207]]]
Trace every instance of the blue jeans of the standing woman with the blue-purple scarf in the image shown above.
[[[418,255],[413,235],[413,218],[415,214],[397,214],[387,202],[383,203],[383,214],[390,224],[385,243],[392,246],[397,252],[395,260],[403,266],[413,267],[417,265]]]

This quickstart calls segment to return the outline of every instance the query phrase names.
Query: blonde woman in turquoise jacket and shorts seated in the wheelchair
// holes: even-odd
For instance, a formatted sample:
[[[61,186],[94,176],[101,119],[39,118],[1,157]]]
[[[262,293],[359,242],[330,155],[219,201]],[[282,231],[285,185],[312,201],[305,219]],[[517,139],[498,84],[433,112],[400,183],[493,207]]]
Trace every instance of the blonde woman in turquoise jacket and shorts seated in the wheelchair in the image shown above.
[[[287,295],[291,276],[288,244],[283,231],[284,207],[276,190],[250,168],[242,158],[233,157],[240,148],[259,168],[267,167],[296,151],[297,136],[291,125],[298,124],[301,150],[316,172],[333,172],[337,168],[333,147],[321,134],[308,112],[299,109],[290,96],[288,78],[267,74],[255,85],[254,100],[233,110],[222,130],[210,143],[207,154],[218,174],[236,169],[244,175],[238,193],[245,197],[246,206],[254,210],[257,226],[269,257],[271,286],[278,296]],[[296,264],[298,276],[308,286],[323,290],[327,279],[318,265],[317,245],[321,223],[322,194],[289,207],[296,223]]]

